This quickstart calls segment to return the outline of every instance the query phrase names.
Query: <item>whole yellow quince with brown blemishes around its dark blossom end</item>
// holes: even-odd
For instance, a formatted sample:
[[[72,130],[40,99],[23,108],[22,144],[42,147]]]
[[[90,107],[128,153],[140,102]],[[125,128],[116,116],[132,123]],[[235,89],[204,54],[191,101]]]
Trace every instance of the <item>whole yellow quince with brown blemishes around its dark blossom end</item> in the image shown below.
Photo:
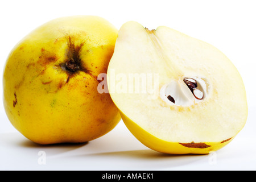
[[[121,117],[100,73],[113,55],[117,29],[98,16],[68,16],[36,28],[11,51],[3,103],[13,126],[40,144],[81,143],[112,130]]]

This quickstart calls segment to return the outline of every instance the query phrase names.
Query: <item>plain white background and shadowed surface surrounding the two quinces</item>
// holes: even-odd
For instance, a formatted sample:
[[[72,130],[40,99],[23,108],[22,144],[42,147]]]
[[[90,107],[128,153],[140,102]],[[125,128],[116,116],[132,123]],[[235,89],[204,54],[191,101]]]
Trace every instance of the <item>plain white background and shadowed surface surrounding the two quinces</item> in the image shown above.
[[[149,29],[168,26],[220,49],[236,65],[246,86],[249,115],[243,130],[212,155],[166,155],[143,146],[121,121],[87,144],[40,146],[11,126],[0,104],[2,170],[255,170],[256,1],[1,1],[0,94],[5,61],[15,44],[48,20],[98,15],[115,27],[135,20]],[[237,85],[239,86],[239,85]],[[232,93],[230,93],[232,94]],[[39,151],[46,154],[40,164]]]

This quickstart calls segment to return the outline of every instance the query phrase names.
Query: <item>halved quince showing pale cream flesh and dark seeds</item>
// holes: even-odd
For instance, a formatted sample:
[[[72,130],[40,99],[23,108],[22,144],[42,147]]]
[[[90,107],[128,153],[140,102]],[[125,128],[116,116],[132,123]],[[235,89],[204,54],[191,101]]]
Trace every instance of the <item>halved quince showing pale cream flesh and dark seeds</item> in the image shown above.
[[[236,137],[247,119],[245,86],[233,63],[165,26],[123,24],[108,89],[131,133],[159,152],[208,154]]]

